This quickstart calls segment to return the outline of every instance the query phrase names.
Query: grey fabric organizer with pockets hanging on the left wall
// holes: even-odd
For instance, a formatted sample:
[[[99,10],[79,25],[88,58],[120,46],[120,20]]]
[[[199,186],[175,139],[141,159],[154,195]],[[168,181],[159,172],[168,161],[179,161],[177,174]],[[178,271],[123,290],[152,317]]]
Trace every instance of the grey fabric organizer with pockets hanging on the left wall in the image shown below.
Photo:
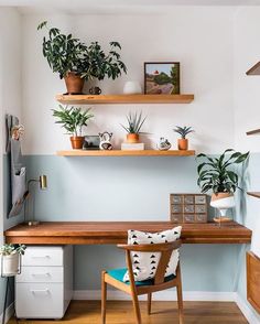
[[[10,164],[11,207],[9,217],[18,216],[22,212],[26,198],[26,170],[22,162],[21,134],[23,126],[19,125],[15,116],[6,116],[7,154]]]

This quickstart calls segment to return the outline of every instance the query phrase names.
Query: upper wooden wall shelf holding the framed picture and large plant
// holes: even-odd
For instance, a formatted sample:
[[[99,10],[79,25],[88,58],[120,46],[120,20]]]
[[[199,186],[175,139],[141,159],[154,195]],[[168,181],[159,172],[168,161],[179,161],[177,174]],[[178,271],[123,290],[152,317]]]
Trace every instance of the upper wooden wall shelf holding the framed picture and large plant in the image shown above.
[[[57,95],[65,105],[88,104],[189,104],[194,95]]]

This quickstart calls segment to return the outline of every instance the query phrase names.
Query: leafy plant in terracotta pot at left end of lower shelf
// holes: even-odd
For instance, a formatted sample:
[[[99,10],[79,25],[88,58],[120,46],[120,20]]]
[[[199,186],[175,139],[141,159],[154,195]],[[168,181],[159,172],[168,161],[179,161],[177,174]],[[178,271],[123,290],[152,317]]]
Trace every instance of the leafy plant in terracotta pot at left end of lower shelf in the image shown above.
[[[84,126],[87,126],[88,120],[94,117],[89,114],[90,108],[83,111],[80,107],[63,107],[58,105],[58,109],[52,109],[53,116],[57,119],[55,123],[59,123],[66,129],[68,134],[72,134],[71,142],[73,149],[82,149],[84,143],[84,137],[82,130]]]

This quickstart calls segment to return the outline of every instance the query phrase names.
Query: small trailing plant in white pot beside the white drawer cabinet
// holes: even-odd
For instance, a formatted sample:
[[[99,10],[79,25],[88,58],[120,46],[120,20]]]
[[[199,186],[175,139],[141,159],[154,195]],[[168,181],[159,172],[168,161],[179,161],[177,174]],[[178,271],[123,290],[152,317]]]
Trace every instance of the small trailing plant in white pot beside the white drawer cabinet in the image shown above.
[[[0,247],[1,274],[3,277],[11,277],[19,273],[19,258],[24,255],[26,247],[24,245],[3,245]]]

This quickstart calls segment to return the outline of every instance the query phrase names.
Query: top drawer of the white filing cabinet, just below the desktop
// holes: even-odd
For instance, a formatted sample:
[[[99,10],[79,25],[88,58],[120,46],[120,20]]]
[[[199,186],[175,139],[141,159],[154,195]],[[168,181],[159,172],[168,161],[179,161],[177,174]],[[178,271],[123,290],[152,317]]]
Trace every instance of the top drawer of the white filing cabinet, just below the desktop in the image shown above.
[[[22,266],[63,266],[63,247],[28,247]]]

